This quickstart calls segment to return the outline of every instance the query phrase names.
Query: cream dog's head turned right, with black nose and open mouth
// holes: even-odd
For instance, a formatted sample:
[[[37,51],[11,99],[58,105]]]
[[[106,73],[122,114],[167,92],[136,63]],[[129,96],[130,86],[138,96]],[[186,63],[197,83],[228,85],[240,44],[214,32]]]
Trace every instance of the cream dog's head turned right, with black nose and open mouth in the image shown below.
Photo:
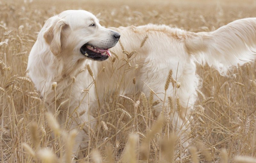
[[[111,56],[109,48],[116,45],[120,34],[104,28],[99,20],[84,10],[67,10],[48,19],[44,39],[55,56],[66,55],[74,60],[103,61]]]

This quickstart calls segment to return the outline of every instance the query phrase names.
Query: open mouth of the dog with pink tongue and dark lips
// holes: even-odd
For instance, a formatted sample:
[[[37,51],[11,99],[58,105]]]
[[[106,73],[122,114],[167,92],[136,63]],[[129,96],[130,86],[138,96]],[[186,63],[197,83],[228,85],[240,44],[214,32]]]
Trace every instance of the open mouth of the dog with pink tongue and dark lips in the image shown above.
[[[111,48],[111,47],[109,47]],[[95,47],[89,44],[84,44],[81,49],[81,53],[88,58],[91,58],[93,60],[97,61],[103,61],[108,59],[108,56],[111,57],[110,51],[107,49],[101,49],[99,47]]]

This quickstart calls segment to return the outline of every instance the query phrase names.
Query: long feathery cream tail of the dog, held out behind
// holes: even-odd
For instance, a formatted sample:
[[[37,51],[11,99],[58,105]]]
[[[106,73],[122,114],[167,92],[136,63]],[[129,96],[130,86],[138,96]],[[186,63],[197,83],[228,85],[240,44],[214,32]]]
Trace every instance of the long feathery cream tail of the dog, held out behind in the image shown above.
[[[196,62],[207,63],[224,75],[230,66],[256,57],[256,18],[236,20],[213,32],[188,32],[185,47]]]

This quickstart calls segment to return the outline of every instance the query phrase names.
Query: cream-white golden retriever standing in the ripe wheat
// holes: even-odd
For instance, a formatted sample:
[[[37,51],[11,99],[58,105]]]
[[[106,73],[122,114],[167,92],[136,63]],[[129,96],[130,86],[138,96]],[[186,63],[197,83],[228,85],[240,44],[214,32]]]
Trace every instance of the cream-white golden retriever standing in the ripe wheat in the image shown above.
[[[116,45],[120,35],[125,51],[137,51],[131,58],[127,58],[119,44]],[[140,48],[146,35],[148,39]],[[207,63],[225,74],[230,66],[252,61],[255,45],[256,18],[236,20],[213,32],[193,33],[153,24],[106,29],[100,26],[92,13],[68,10],[46,21],[29,54],[27,70],[49,110],[55,111],[55,92],[51,90],[51,85],[57,82],[57,95],[70,99],[61,108],[69,114],[75,110],[85,111],[82,118],[76,120],[77,123],[72,123],[71,128],[75,128],[90,121],[89,110],[102,104],[104,94],[115,91],[116,82],[120,83],[123,95],[133,94],[133,77],[137,81],[136,91],[149,95],[153,90],[155,100],[162,102],[165,96],[179,97],[182,108],[187,112],[195,105],[197,98],[200,78],[196,74],[196,63]],[[114,63],[108,59],[111,47],[119,58]],[[132,67],[126,65],[127,61]],[[93,77],[88,71],[81,72],[87,65],[92,68]],[[104,67],[105,72],[102,72]],[[169,70],[181,86],[175,94],[170,86],[165,95],[162,92],[165,92]],[[90,96],[81,93],[81,90],[88,88]],[[174,113],[172,122],[177,130],[189,128],[178,113]],[[80,131],[76,141],[82,142],[83,138],[84,132]],[[76,144],[74,153],[79,145]]]

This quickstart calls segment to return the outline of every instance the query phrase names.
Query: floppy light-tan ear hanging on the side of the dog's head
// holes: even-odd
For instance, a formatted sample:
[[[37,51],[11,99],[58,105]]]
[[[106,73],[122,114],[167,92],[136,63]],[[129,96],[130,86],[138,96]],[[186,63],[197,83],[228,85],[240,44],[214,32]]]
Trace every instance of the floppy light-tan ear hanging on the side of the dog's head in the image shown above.
[[[60,19],[58,16],[54,16],[51,19],[51,25],[46,28],[46,32],[44,33],[44,39],[46,43],[49,44],[52,53],[56,56],[60,54],[60,37],[63,30],[68,27],[68,24],[65,19]]]

